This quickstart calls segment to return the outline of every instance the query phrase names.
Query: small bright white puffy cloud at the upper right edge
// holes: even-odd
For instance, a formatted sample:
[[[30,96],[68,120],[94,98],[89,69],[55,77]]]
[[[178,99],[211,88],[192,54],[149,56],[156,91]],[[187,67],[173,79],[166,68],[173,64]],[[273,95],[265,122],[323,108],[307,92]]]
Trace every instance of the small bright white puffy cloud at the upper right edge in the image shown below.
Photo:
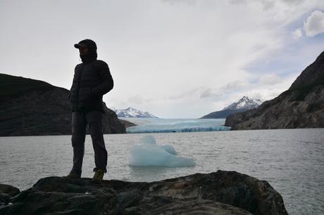
[[[304,31],[307,37],[314,37],[324,32],[324,13],[313,11],[304,22]]]

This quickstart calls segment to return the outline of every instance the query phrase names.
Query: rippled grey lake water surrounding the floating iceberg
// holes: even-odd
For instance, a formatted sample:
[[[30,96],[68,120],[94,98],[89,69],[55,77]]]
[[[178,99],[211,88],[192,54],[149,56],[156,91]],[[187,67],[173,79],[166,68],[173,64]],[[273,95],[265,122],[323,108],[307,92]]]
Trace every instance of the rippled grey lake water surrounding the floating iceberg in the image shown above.
[[[324,214],[324,129],[153,133],[195,167],[129,167],[130,148],[144,133],[105,135],[104,179],[158,181],[218,169],[266,180],[283,197],[289,214]],[[46,176],[65,176],[72,163],[70,136],[0,137],[0,183],[21,190]],[[92,177],[94,152],[86,138],[82,177]]]

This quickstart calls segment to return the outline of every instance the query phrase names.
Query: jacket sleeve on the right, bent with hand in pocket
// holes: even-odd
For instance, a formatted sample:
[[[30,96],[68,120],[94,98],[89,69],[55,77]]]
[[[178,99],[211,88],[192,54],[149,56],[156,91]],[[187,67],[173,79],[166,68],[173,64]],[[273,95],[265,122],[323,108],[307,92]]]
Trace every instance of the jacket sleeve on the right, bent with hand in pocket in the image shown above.
[[[102,62],[98,73],[101,79],[101,84],[92,88],[91,93],[94,96],[102,96],[113,89],[113,77],[111,77],[111,72],[106,63]]]

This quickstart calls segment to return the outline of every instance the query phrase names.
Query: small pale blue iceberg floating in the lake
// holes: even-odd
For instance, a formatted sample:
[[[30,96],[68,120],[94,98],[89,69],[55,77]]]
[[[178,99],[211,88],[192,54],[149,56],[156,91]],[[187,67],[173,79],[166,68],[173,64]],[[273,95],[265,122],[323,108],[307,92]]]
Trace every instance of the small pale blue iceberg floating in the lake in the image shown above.
[[[193,167],[194,159],[178,157],[172,145],[156,145],[154,136],[144,136],[130,149],[130,167]]]

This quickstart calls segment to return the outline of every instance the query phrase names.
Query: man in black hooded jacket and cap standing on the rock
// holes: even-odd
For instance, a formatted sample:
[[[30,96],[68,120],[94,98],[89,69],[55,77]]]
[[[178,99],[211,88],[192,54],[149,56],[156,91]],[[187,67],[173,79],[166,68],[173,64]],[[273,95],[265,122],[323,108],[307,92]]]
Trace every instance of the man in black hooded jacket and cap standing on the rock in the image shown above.
[[[108,65],[96,60],[96,43],[85,39],[74,45],[80,51],[82,63],[76,65],[68,99],[72,103],[73,168],[68,178],[80,178],[85,155],[85,131],[89,126],[94,148],[94,179],[102,180],[107,172],[107,150],[102,129],[104,106],[102,96],[113,89]]]

